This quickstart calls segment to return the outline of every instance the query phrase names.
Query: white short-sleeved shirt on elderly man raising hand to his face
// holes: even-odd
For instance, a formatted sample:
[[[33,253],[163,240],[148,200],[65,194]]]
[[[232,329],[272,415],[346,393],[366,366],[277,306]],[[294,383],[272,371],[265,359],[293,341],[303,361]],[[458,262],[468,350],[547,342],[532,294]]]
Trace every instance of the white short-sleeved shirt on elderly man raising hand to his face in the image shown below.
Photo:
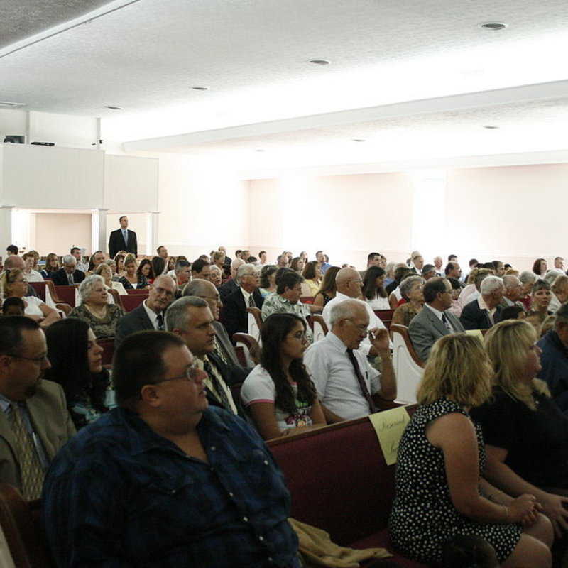
[[[369,393],[378,393],[381,373],[368,364],[361,351],[354,350],[353,354]],[[312,376],[318,398],[332,413],[345,420],[369,414],[368,402],[361,392],[347,348],[336,334],[329,332],[324,339],[310,345],[304,354],[304,364]]]

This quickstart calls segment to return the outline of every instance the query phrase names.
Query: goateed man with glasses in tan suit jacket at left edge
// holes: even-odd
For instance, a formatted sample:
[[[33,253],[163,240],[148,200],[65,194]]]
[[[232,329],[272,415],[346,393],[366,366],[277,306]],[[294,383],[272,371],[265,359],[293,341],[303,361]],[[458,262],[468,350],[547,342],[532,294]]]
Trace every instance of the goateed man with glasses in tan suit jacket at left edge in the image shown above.
[[[57,383],[42,381],[50,367],[48,346],[29,317],[0,320],[0,481],[23,497],[39,498],[50,461],[75,427],[65,394]]]

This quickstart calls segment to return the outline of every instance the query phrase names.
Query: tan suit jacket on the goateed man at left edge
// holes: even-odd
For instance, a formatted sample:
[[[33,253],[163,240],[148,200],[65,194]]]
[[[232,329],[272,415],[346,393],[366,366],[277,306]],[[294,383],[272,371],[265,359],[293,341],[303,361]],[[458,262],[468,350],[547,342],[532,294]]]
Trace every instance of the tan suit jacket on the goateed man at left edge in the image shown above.
[[[43,444],[48,460],[75,435],[75,426],[67,412],[65,394],[58,383],[41,381],[38,392],[26,401],[33,428]],[[0,411],[0,481],[20,491],[21,472],[16,439],[6,414]]]

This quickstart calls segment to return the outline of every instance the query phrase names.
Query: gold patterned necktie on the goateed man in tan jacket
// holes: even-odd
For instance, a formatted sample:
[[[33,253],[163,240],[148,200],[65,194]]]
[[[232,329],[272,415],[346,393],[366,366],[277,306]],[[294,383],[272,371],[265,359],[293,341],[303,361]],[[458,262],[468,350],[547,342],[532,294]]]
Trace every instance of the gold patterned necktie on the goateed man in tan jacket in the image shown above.
[[[12,403],[8,421],[16,438],[16,445],[20,454],[20,471],[22,479],[23,497],[28,501],[38,499],[43,484],[43,468],[40,464],[38,452],[33,444],[33,438],[21,415],[21,409]]]

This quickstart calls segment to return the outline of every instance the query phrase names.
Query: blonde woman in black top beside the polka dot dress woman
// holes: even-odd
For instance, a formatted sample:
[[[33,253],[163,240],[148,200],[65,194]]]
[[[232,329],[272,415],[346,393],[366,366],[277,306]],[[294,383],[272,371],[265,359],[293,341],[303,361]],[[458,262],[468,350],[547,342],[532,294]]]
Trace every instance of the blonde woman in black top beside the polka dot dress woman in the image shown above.
[[[540,372],[535,329],[506,320],[484,339],[493,366],[493,396],[471,411],[481,424],[487,478],[503,491],[537,498],[557,535],[568,525],[568,417],[550,398]],[[532,565],[532,564],[527,564]]]

